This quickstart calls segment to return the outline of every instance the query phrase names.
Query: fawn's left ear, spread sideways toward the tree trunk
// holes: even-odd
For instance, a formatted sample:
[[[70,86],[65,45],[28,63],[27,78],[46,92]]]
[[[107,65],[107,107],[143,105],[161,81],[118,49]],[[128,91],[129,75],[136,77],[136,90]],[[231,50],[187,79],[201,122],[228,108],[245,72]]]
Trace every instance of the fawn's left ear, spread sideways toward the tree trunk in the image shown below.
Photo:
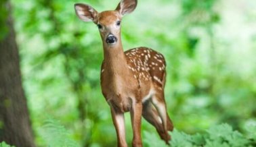
[[[74,4],[74,10],[76,11],[77,16],[84,22],[94,22],[98,14],[93,7],[83,3]]]

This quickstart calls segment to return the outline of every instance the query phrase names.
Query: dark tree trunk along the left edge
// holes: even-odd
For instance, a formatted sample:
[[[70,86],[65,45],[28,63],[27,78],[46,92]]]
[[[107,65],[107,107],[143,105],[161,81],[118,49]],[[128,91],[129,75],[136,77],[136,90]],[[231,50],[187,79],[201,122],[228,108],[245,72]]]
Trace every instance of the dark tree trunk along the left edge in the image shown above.
[[[22,89],[20,59],[11,9],[8,2],[3,7],[7,8],[4,22],[8,33],[0,40],[0,142],[4,141],[16,147],[35,146]]]

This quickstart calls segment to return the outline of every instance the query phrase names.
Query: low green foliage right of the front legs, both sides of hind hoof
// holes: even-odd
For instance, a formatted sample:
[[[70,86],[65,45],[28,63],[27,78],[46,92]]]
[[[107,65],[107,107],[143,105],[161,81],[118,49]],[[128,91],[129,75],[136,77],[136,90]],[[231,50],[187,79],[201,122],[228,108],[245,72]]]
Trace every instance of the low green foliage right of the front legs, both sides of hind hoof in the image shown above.
[[[144,144],[146,146],[167,146],[165,143],[158,139],[158,136],[144,132],[146,140]],[[174,129],[171,134],[171,146],[172,147],[240,147],[240,146],[255,146],[256,138],[247,138],[240,134],[238,131],[234,131],[228,124],[216,125],[206,130],[206,134],[186,134],[182,131]]]

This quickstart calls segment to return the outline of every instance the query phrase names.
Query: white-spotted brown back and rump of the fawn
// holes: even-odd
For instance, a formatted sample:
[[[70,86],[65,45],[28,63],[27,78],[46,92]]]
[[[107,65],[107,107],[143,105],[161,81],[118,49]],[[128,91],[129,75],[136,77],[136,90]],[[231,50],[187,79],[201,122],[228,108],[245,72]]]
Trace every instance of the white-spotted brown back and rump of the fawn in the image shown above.
[[[125,51],[129,69],[142,82],[153,82],[163,88],[165,84],[165,58],[161,53],[146,47]]]

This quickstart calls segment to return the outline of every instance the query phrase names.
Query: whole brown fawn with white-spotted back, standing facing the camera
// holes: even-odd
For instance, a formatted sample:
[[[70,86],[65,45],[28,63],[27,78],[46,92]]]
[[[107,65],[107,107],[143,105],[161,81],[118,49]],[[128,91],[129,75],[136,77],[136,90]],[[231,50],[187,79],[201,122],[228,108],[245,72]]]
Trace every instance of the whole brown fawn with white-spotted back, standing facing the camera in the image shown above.
[[[142,146],[142,116],[168,144],[171,139],[168,131],[173,130],[173,123],[165,105],[165,59],[161,53],[146,47],[123,51],[121,20],[136,6],[137,0],[121,0],[113,11],[98,13],[82,3],[75,4],[74,8],[81,20],[94,22],[100,30],[104,50],[101,87],[110,105],[118,146],[127,146],[124,118],[127,111],[131,113],[133,146]]]

